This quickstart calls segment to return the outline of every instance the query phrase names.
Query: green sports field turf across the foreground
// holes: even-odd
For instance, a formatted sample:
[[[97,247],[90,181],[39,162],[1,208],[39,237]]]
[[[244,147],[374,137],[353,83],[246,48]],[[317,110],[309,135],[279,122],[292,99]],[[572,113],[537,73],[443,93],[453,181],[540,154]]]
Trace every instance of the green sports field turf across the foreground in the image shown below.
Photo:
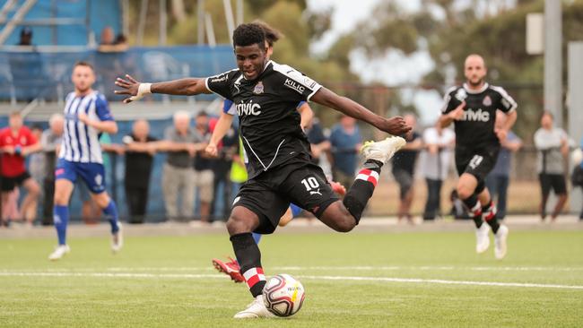
[[[266,275],[299,278],[304,307],[288,319],[231,319],[251,300],[215,272],[225,235],[0,240],[0,326],[365,327],[583,326],[583,231],[511,233],[503,261],[474,253],[471,232],[275,234]]]

